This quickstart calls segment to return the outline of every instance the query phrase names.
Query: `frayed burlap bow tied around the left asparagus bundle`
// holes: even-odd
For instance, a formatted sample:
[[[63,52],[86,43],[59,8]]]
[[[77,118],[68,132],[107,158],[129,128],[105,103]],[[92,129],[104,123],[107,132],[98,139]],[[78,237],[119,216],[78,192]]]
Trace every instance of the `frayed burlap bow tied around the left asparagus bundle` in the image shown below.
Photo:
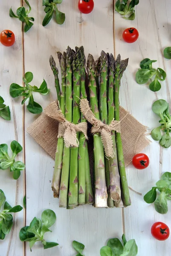
[[[65,119],[62,111],[60,110],[56,102],[52,102],[45,109],[45,114],[53,119],[58,120],[58,138],[64,137],[64,143],[67,148],[78,147],[79,142],[77,139],[77,132],[84,133],[86,139],[87,137],[87,122],[79,123],[78,125],[72,124],[67,119]]]

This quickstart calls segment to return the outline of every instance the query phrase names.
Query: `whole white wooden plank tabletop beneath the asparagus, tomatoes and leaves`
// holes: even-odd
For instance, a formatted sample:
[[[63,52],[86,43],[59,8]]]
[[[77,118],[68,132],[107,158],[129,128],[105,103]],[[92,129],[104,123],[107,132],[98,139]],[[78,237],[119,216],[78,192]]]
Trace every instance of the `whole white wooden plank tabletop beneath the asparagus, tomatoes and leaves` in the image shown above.
[[[53,198],[51,180],[54,160],[27,134],[26,129],[38,117],[21,105],[21,99],[13,99],[9,95],[11,83],[22,84],[24,72],[34,74],[32,84],[40,86],[43,78],[51,93],[48,96],[35,95],[35,101],[46,107],[56,99],[54,76],[49,66],[49,55],[53,55],[59,67],[56,52],[64,51],[68,45],[84,46],[85,54],[91,53],[96,59],[101,50],[121,54],[122,59],[129,57],[128,68],[122,78],[120,103],[132,115],[151,129],[157,127],[158,117],[151,111],[152,103],[157,99],[165,99],[171,106],[171,60],[163,58],[165,47],[171,46],[171,1],[140,0],[133,21],[124,20],[114,12],[113,0],[94,0],[95,8],[89,15],[78,12],[78,0],[64,0],[60,10],[65,13],[63,25],[54,19],[46,26],[41,25],[45,13],[42,0],[29,0],[32,6],[31,16],[35,17],[34,26],[23,33],[19,20],[9,17],[12,6],[16,10],[21,6],[20,0],[8,0],[0,3],[0,30],[11,29],[16,42],[12,47],[0,45],[0,96],[11,109],[11,121],[0,118],[0,144],[10,145],[17,140],[23,145],[23,151],[17,160],[25,161],[26,170],[20,178],[13,180],[9,171],[0,170],[0,189],[12,206],[23,205],[26,194],[26,210],[14,214],[14,226],[4,241],[0,241],[0,256],[74,256],[72,240],[85,244],[86,256],[99,256],[100,248],[107,239],[118,237],[122,233],[127,239],[136,239],[138,256],[171,255],[171,238],[157,241],[151,236],[151,225],[155,221],[163,221],[171,228],[170,211],[160,215],[153,205],[143,201],[143,195],[159,180],[165,171],[171,171],[171,148],[165,149],[158,142],[152,141],[144,150],[150,157],[150,166],[139,171],[127,168],[128,184],[137,195],[130,191],[132,204],[126,209],[95,209],[91,206],[73,210],[60,209],[58,199]],[[122,40],[122,32],[128,27],[136,27],[139,39],[134,44]],[[135,81],[135,73],[143,58],[156,59],[154,67],[161,67],[167,73],[162,82],[162,89],[154,93],[148,85],[139,85]],[[37,97],[36,97],[37,96]],[[150,136],[149,136],[150,138]],[[57,220],[52,227],[53,233],[46,233],[47,241],[56,241],[58,247],[43,250],[41,244],[33,247],[24,245],[19,239],[20,228],[29,224],[32,218],[41,217],[44,209],[55,211]]]

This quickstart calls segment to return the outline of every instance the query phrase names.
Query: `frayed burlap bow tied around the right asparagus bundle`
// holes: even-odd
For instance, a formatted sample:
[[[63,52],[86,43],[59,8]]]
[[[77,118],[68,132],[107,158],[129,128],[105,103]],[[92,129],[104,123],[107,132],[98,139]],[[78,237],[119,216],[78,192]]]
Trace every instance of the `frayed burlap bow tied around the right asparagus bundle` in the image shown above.
[[[103,122],[101,122],[101,120],[96,119],[95,115],[90,109],[89,102],[87,101],[87,99],[81,99],[80,109],[85,118],[87,119],[87,121],[93,125],[91,132],[93,134],[100,133],[106,157],[113,158],[114,152],[111,131],[120,132],[120,122],[115,121],[113,119],[110,125],[106,125]]]

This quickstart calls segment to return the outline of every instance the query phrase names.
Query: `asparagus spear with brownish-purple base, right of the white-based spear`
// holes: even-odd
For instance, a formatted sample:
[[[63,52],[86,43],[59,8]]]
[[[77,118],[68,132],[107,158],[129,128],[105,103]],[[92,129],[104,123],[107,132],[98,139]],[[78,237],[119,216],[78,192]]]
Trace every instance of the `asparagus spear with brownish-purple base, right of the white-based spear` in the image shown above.
[[[114,68],[115,68],[115,60],[113,55],[110,54],[109,89],[108,89],[108,122],[109,124],[112,122],[114,118],[114,109],[115,109],[114,102],[113,102]],[[119,175],[119,168],[118,168],[115,131],[112,131],[112,140],[113,140],[114,157],[109,158],[110,195],[111,195],[111,198],[115,201],[115,204],[118,204],[121,201],[121,188],[120,188],[120,175]]]

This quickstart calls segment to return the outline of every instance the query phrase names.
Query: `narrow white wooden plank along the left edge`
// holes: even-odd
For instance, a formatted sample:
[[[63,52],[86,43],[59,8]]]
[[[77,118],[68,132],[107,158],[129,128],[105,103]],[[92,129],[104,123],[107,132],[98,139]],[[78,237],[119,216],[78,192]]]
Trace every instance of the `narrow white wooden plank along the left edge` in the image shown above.
[[[20,0],[9,0],[4,4],[1,3],[0,8],[1,30],[12,30],[16,40],[12,47],[5,47],[0,44],[0,96],[5,100],[5,104],[9,105],[11,111],[11,121],[6,121],[0,117],[0,144],[6,143],[9,145],[10,155],[12,155],[10,149],[12,140],[17,140],[23,145],[23,107],[21,98],[13,99],[9,95],[10,84],[18,83],[22,85],[23,73],[21,23],[19,20],[9,17],[11,6],[15,11],[20,6]],[[24,161],[23,151],[18,154],[16,160]],[[0,189],[5,193],[9,204],[23,206],[25,173],[21,172],[20,178],[14,180],[9,170],[0,170]],[[25,210],[23,209],[21,212],[14,214],[13,221],[11,232],[0,242],[1,256],[24,255],[24,244],[20,241],[18,234],[25,223]]]

